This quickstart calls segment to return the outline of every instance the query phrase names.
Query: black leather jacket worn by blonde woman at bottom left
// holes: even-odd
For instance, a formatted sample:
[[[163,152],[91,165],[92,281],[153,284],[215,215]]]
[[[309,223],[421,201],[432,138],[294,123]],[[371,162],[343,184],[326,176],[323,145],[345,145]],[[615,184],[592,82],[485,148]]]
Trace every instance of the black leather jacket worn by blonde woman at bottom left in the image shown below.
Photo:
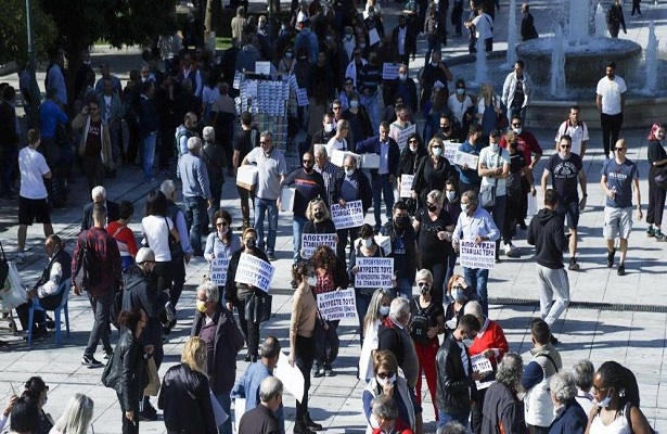
[[[168,432],[217,434],[208,379],[185,363],[169,368],[159,388],[157,407],[164,410]]]

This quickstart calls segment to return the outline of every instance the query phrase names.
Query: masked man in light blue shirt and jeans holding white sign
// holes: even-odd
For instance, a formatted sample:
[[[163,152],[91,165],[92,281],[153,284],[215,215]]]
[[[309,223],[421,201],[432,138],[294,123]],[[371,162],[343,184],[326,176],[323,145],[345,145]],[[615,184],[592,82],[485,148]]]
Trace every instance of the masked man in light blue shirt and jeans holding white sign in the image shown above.
[[[454,251],[459,250],[461,241],[472,241],[478,245],[483,241],[496,241],[499,238],[500,231],[490,214],[479,206],[477,193],[472,190],[463,193],[461,195],[461,214],[457,220],[457,227],[451,239]],[[489,279],[489,270],[463,267],[463,275],[465,276],[465,281],[475,289],[484,315],[488,317],[489,302],[486,283]]]

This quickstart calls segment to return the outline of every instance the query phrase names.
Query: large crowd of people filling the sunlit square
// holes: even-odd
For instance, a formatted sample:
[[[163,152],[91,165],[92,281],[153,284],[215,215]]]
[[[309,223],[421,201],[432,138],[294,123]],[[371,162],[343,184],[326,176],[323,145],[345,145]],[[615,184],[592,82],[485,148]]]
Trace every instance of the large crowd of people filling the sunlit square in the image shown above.
[[[470,20],[463,18],[462,0],[453,1],[450,16],[449,5],[445,0],[410,0],[396,28],[385,31],[375,0],[368,0],[362,13],[348,0],[333,5],[295,2],[293,20],[282,23],[277,38],[270,23],[246,18],[240,7],[232,21],[233,46],[219,64],[202,49],[149,51],[145,65],[130,73],[125,88],[107,64],[95,80],[88,52],[81,55],[75,89],[68,88],[63,79],[65,53],[56,50],[39,126],[29,126],[21,151],[16,91],[0,86],[0,196],[18,199],[15,260],[26,260],[26,232],[34,222],[43,225],[48,256],[28,302],[16,308],[18,318],[24,330],[31,327],[33,335],[43,336],[53,324],[43,311],[28,323],[33,299],[53,309],[70,289],[88,297],[93,321],[81,363],[105,366],[95,358],[101,342],[106,360],[102,382],[117,394],[123,433],[138,433],[140,420],[157,419],[150,399],[157,392],[147,392],[156,390],[155,378],[146,373],[157,372],[164,361],[165,336],[175,327],[177,307],[188,309],[179,301],[193,257],[210,263],[210,276],[218,259],[225,259],[227,278],[223,284],[208,280],[196,288],[181,363],[157,379],[157,407],[167,432],[231,434],[232,419],[221,414],[232,414],[233,398],[245,398],[238,432],[284,432],[283,384],[273,376],[281,344],[260,333],[267,320],[261,306],[268,303],[270,309],[270,299],[236,273],[247,256],[277,260],[281,195],[291,187],[294,297],[287,361],[305,380],[304,395],[296,397],[295,433],[322,431],[309,410],[311,378],[333,376],[341,366],[339,320],[324,318],[317,301],[349,286],[359,320],[358,378],[365,383],[360,398],[368,432],[423,433],[429,422],[422,417],[426,387],[442,433],[469,426],[474,433],[527,429],[534,434],[597,434],[611,432],[610,426],[617,429],[614,432],[650,432],[631,371],[614,361],[594,371],[587,360],[563,370],[559,340],[551,332],[569,303],[564,252],[569,254],[568,271],[582,266],[577,229],[587,206],[582,161],[590,149],[580,110],[570,107],[557,126],[556,152],[541,176],[535,174],[543,149],[525,128],[533,85],[524,62],[516,62],[501,92],[485,84],[476,98],[467,93],[465,80],[453,80],[441,58],[448,18],[453,37],[462,36],[463,26],[469,29],[471,52],[492,50],[498,1],[471,1]],[[522,37],[538,37],[528,5],[522,11]],[[409,62],[418,54],[420,34],[427,41],[426,65],[415,82],[409,77]],[[234,73],[252,71],[258,60],[272,61],[277,74],[294,74],[309,95],[306,106],[291,104],[291,139],[303,137],[300,130],[306,133],[298,145],[300,166],[294,170],[274,143],[275,131],[259,131],[248,112],[236,120]],[[385,63],[399,64],[396,78],[382,78]],[[20,90],[24,102],[36,103],[29,89]],[[626,273],[633,208],[638,219],[643,217],[640,174],[626,157],[628,144],[620,137],[626,90],[611,62],[597,87],[605,162],[594,181],[606,196],[606,265],[616,266],[618,276]],[[423,130],[414,128],[405,137],[401,131],[418,118],[424,120]],[[654,124],[647,138],[646,234],[658,242],[667,241],[660,229],[666,191],[658,179],[667,166],[664,136],[664,127]],[[450,161],[445,151],[452,143],[470,158]],[[339,151],[348,153],[334,164]],[[364,169],[355,154],[375,154],[379,163]],[[13,191],[16,163],[20,189]],[[91,202],[84,208],[70,256],[53,233],[50,213],[66,204],[76,164]],[[139,242],[128,227],[134,204],[108,200],[103,187],[113,183],[123,165],[139,166],[151,183],[163,178],[145,197]],[[220,208],[226,177],[235,178],[248,165],[257,167],[257,181],[238,186],[239,213]],[[526,225],[538,180],[544,207]],[[395,190],[401,191],[402,182],[411,182],[410,193],[397,197]],[[177,204],[178,186],[183,207]],[[332,207],[356,201],[364,218],[373,208],[373,224],[337,228]],[[232,228],[235,214],[241,215],[240,227]],[[520,256],[512,243],[517,227],[535,245],[540,293],[540,318],[530,323],[534,348],[527,362],[510,352],[501,324],[488,317],[489,269],[458,265],[462,245],[471,243],[493,243],[495,261],[501,253],[510,260]],[[335,246],[307,253],[304,234],[334,235]],[[393,259],[388,288],[358,284],[358,259],[372,257]],[[62,284],[67,281],[70,285]],[[111,324],[120,331],[115,346]],[[238,379],[235,361],[244,347],[251,365]],[[48,391],[39,376],[31,378],[8,404],[0,425],[16,433],[87,432],[92,400],[74,395],[53,423],[42,409]]]

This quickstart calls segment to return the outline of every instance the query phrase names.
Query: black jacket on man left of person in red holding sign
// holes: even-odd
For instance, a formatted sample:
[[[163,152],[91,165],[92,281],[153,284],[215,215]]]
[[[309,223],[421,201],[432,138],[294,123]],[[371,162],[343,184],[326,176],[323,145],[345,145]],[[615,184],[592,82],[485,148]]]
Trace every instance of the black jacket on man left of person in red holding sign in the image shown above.
[[[469,356],[467,371],[473,372],[473,366],[470,361],[470,352],[465,349]],[[438,354],[436,355],[436,366],[438,369],[438,388],[436,394],[436,405],[438,410],[449,414],[469,414],[471,405],[470,396],[475,395],[475,382],[471,375],[465,375],[463,361],[461,360],[461,347],[450,333]]]

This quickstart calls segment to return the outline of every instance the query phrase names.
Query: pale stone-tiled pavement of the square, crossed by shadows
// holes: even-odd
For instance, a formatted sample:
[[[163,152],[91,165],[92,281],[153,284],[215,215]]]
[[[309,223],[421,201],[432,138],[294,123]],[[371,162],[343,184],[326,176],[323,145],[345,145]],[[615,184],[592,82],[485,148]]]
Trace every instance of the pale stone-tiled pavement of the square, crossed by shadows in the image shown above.
[[[540,25],[547,27],[547,1],[535,1],[534,14]],[[506,17],[506,2],[502,2],[498,23]],[[664,4],[657,9],[642,3],[644,15],[640,20],[626,16],[629,24],[628,37],[640,41],[644,27],[642,21],[650,16],[665,17]],[[393,4],[384,9],[385,16],[392,14]],[[629,13],[627,13],[629,15]],[[390,20],[390,18],[388,18]],[[660,20],[664,23],[663,20]],[[658,25],[658,38],[667,40],[666,26]],[[644,23],[645,24],[645,23]],[[392,28],[392,26],[387,26]],[[497,44],[502,49],[502,28],[498,29]],[[542,30],[544,31],[544,30]],[[541,33],[542,33],[541,31]],[[500,41],[499,41],[500,40]],[[445,51],[449,54],[465,52],[466,42],[452,41]],[[102,50],[100,50],[102,51]],[[113,58],[120,62],[119,75],[127,76],[130,67],[139,64],[136,54],[115,54],[104,52],[99,56]],[[98,62],[93,59],[93,62]],[[99,63],[99,62],[98,62]],[[116,62],[115,64],[118,65]],[[418,68],[419,64],[411,65]],[[127,68],[127,69],[126,69]],[[15,77],[4,77],[3,80]],[[38,82],[43,82],[43,75],[38,76]],[[20,110],[21,111],[21,110]],[[565,118],[563,114],[563,119]],[[553,137],[561,119],[554,119],[553,125],[543,125],[534,130],[544,148],[547,157],[553,152]],[[586,119],[585,119],[586,120]],[[646,126],[647,127],[647,126]],[[647,130],[624,131],[629,142],[628,157],[638,163],[641,175],[642,204],[645,212],[647,203],[646,141]],[[591,131],[589,153],[585,159],[588,179],[589,202],[580,219],[579,263],[581,271],[569,272],[572,288],[572,305],[561,321],[556,322],[554,333],[562,344],[560,350],[564,367],[572,366],[580,358],[589,358],[595,366],[610,359],[631,368],[640,383],[642,409],[656,430],[667,430],[667,405],[665,403],[667,369],[664,369],[663,354],[666,347],[667,295],[664,276],[667,271],[667,247],[644,237],[645,224],[636,221],[630,239],[625,277],[616,276],[615,269],[605,267],[605,250],[602,240],[604,196],[599,187],[602,155],[600,152],[600,131]],[[538,165],[536,174],[541,174],[543,162]],[[162,180],[162,179],[159,179]],[[134,167],[123,167],[118,178],[107,182],[110,199],[114,201],[130,200],[136,205],[136,218],[130,227],[139,231],[139,220],[142,215],[144,197],[147,191],[157,187],[143,182],[141,171]],[[233,226],[240,224],[240,209],[233,180],[228,179],[223,187],[222,207],[230,210],[234,218]],[[78,233],[81,208],[89,201],[85,181],[77,178],[72,186],[69,206],[52,214],[54,230],[68,242]],[[16,245],[16,204],[2,202],[0,204],[0,241],[9,256],[13,256]],[[137,232],[138,233],[138,232]],[[273,316],[261,330],[261,336],[277,335],[288,348],[287,327],[290,321],[291,293],[290,265],[292,257],[291,216],[281,214],[279,221],[279,238],[277,244],[277,275],[272,284]],[[503,327],[510,348],[528,359],[530,335],[528,326],[530,318],[539,315],[538,294],[533,265],[533,251],[525,242],[525,232],[520,231],[516,245],[524,255],[521,258],[504,258],[490,272],[489,295],[491,297],[490,317],[500,321]],[[43,240],[41,228],[34,226],[28,232],[28,256],[26,265],[20,268],[24,283],[34,282],[44,265]],[[169,336],[165,346],[165,362],[161,369],[164,373],[170,366],[179,362],[183,342],[188,339],[189,326],[194,312],[194,288],[207,272],[207,265],[202,258],[194,258],[188,267],[188,281],[183,292],[179,324]],[[82,348],[87,342],[91,324],[88,302],[84,297],[72,296],[69,302],[72,336],[64,340],[64,346],[54,347],[54,336],[37,341],[28,348],[21,340],[14,340],[7,347],[0,347],[0,403],[4,403],[13,390],[21,390],[23,382],[30,375],[40,374],[50,388],[50,399],[46,410],[55,418],[61,414],[67,398],[75,392],[86,393],[95,401],[95,433],[117,433],[120,424],[120,409],[115,394],[100,383],[101,369],[91,370],[80,365]],[[364,429],[364,417],[361,412],[361,392],[363,384],[356,379],[356,363],[359,354],[359,336],[356,321],[344,321],[339,328],[341,354],[334,369],[334,378],[312,379],[311,414],[320,421],[329,433],[361,433]],[[0,336],[8,339],[7,335]],[[286,349],[288,350],[288,349]],[[101,357],[101,353],[99,354]],[[247,363],[239,361],[238,373],[242,373]],[[666,367],[667,368],[667,367]],[[285,417],[287,432],[292,430],[294,420],[294,398],[285,396]],[[435,432],[433,422],[433,406],[424,391],[424,420],[426,432]],[[164,433],[162,421],[142,422],[141,431],[145,433]]]

